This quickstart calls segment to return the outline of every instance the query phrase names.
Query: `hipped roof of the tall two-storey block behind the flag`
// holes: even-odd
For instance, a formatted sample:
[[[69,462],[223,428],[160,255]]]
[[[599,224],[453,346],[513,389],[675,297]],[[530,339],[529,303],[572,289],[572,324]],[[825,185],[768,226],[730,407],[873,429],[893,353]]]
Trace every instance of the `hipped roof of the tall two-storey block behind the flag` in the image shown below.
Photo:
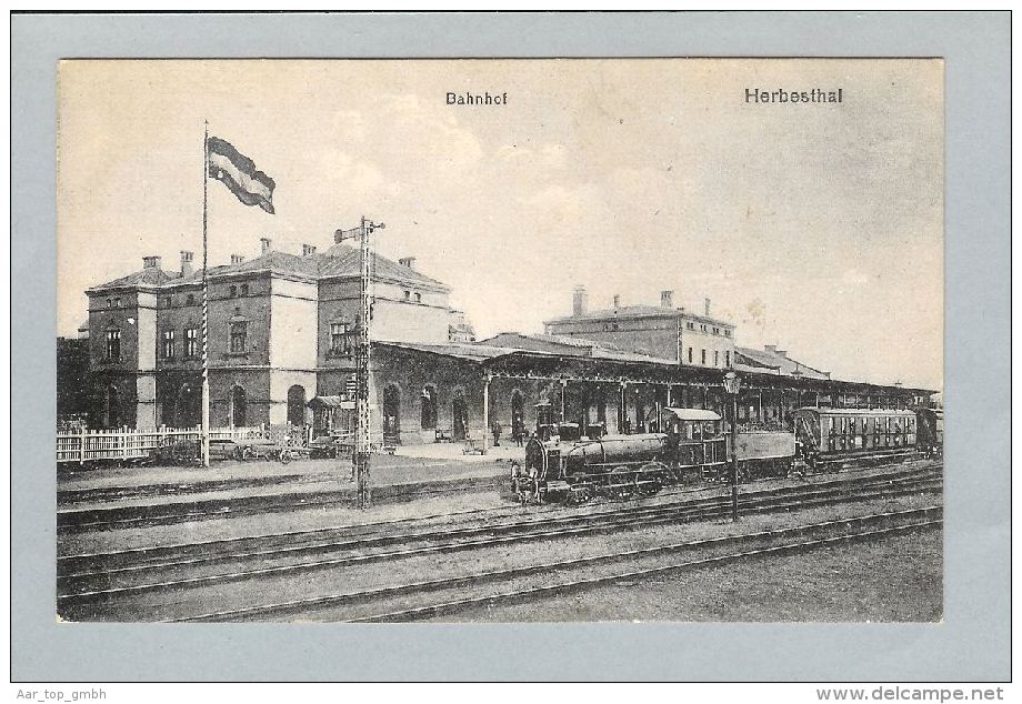
[[[372,253],[372,269],[374,279],[389,279],[410,284],[419,284],[443,290],[449,286],[422,272],[399,264],[375,252]],[[254,273],[269,271],[274,274],[292,274],[310,279],[332,279],[339,276],[358,276],[362,270],[362,252],[347,244],[334,244],[325,252],[307,254],[289,254],[270,250],[260,257],[238,264],[221,264],[209,268],[209,276],[228,276],[233,274]],[[202,282],[202,270],[197,269],[187,275],[179,272],[168,272],[156,266],[148,266],[134,273],[110,281],[90,291],[133,285],[178,286],[198,284]]]

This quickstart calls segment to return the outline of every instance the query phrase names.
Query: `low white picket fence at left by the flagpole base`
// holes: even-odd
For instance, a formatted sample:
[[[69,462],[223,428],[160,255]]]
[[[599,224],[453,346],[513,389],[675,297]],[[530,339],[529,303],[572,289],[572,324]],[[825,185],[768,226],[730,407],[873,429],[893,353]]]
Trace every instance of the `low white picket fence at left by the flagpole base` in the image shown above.
[[[57,462],[90,462],[93,460],[139,460],[148,457],[159,447],[180,441],[198,442],[202,429],[154,428],[136,430],[83,429],[71,433],[57,433]],[[212,428],[210,440],[257,440],[267,438],[265,425],[251,428]]]

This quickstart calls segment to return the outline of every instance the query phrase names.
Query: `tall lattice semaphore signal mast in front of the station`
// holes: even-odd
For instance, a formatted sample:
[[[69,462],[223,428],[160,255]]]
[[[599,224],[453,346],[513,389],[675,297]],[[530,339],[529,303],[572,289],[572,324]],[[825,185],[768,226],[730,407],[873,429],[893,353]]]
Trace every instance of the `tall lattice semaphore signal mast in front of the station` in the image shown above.
[[[361,271],[359,275],[359,340],[355,345],[355,409],[358,426],[355,428],[354,452],[351,456],[351,472],[355,480],[355,503],[359,509],[365,510],[372,505],[372,482],[369,476],[369,457],[372,453],[372,414],[369,405],[369,390],[372,386],[372,370],[369,365],[370,334],[369,323],[372,320],[372,251],[369,247],[369,235],[378,228],[385,228],[382,222],[375,223],[362,218],[358,228],[338,230],[338,242],[347,239],[359,238],[361,251]]]

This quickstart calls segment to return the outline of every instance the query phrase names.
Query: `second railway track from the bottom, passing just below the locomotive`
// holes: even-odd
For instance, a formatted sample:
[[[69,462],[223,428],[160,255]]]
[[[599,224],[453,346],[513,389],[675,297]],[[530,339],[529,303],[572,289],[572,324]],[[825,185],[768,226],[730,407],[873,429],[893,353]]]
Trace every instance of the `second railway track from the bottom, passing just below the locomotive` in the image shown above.
[[[833,480],[809,486],[779,487],[747,493],[743,513],[763,513],[832,505],[939,491],[939,471],[916,471],[896,476],[879,475]],[[418,531],[379,531],[368,524],[361,535],[350,526],[279,535],[212,541],[192,545],[74,555],[58,563],[58,603],[73,606],[94,601],[222,584],[241,580],[297,574],[383,560],[431,553],[492,547],[521,541],[585,535],[664,525],[727,515],[725,496],[697,501],[628,506],[610,511],[531,514],[529,520],[488,521],[485,514],[461,526],[432,526]],[[397,523],[397,522],[395,522]],[[382,524],[394,527],[394,523]],[[374,530],[377,529],[377,530]],[[393,546],[398,546],[393,549]],[[314,557],[314,559],[310,559]],[[250,565],[261,564],[258,569]],[[188,572],[188,576],[180,576]]]

